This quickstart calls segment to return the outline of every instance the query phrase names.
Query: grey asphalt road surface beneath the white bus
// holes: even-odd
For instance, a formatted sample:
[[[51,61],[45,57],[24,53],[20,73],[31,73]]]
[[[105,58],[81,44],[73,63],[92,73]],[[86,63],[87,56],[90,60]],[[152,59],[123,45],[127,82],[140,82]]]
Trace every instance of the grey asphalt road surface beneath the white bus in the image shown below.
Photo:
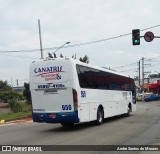
[[[108,118],[100,126],[65,128],[32,122],[2,126],[0,145],[160,145],[160,101],[137,102],[130,117]]]

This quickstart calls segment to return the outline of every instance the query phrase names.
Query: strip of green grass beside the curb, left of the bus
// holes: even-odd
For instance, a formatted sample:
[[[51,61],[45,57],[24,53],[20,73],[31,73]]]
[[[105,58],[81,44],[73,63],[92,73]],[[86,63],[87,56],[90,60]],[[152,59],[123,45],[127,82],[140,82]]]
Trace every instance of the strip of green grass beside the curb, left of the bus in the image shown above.
[[[11,121],[11,120],[16,120],[20,118],[25,118],[31,115],[32,115],[31,111],[17,112],[17,113],[13,113],[13,112],[3,113],[3,114],[0,114],[0,120]]]

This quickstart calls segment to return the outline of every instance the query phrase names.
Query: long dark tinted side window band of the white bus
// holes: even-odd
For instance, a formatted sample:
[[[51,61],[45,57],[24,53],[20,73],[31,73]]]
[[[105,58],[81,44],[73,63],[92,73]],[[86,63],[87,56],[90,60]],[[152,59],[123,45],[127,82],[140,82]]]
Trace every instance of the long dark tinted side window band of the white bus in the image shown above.
[[[132,91],[134,81],[117,74],[76,65],[81,88]]]

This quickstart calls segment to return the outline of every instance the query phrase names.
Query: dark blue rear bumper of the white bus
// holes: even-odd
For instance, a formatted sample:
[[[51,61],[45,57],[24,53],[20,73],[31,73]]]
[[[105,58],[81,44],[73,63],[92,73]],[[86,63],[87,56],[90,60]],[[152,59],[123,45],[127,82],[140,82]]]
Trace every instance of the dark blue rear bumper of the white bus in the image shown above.
[[[78,111],[60,113],[35,113],[32,112],[34,122],[46,123],[78,123]]]

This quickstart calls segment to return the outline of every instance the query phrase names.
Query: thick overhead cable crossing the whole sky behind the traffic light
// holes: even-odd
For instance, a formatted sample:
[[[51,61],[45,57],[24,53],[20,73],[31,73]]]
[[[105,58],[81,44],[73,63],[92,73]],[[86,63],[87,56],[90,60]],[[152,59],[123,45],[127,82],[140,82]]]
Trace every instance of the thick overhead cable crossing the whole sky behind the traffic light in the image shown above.
[[[160,26],[160,25],[155,25],[155,26],[152,26],[152,27],[144,28],[144,29],[142,29],[142,30],[140,30],[140,31],[145,31],[145,30],[153,29],[153,28],[156,28],[156,27],[159,27],[159,26]],[[121,34],[121,35],[118,35],[118,36],[113,36],[113,37],[109,37],[109,38],[105,38],[105,39],[101,39],[101,40],[84,42],[84,43],[77,43],[77,44],[73,44],[73,45],[64,46],[63,48],[71,48],[71,47],[78,47],[78,46],[82,46],[82,45],[90,45],[90,44],[100,43],[100,42],[104,42],[104,41],[109,41],[109,40],[113,40],[113,39],[125,37],[125,36],[131,35],[131,34],[132,34],[132,33],[126,33],[126,34]],[[43,48],[43,50],[53,50],[53,49],[58,49],[58,48],[59,48],[59,47]],[[34,51],[40,51],[40,49],[0,51],[0,53],[34,52]]]

